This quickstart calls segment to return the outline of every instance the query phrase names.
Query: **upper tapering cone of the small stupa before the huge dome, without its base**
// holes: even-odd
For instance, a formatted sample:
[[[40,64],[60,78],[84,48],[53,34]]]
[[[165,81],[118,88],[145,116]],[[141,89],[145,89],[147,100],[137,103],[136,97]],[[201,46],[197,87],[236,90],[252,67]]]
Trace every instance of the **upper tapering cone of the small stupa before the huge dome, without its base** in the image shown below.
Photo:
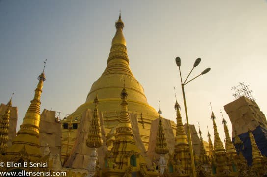
[[[132,130],[132,125],[130,122],[129,118],[129,113],[128,113],[128,103],[127,103],[127,91],[125,89],[125,81],[123,84],[123,89],[121,91],[121,114],[119,118],[119,122],[116,128],[116,136],[117,137],[134,137],[133,130]]]

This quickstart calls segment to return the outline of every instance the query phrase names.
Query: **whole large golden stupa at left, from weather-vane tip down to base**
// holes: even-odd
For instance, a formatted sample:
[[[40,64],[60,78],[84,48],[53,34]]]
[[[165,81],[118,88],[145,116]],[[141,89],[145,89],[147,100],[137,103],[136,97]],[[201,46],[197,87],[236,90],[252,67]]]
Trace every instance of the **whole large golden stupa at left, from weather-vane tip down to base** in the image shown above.
[[[46,63],[46,62],[44,62]],[[44,66],[45,69],[45,66]],[[38,77],[37,88],[35,89],[35,94],[31,104],[25,114],[23,123],[20,126],[20,130],[17,132],[17,136],[12,141],[12,146],[9,147],[5,155],[0,155],[2,161],[13,161],[14,163],[24,164],[27,162],[42,163],[42,167],[38,166],[36,168],[26,168],[22,165],[25,171],[44,171],[47,169],[49,155],[42,157],[40,152],[40,142],[39,142],[39,124],[40,124],[40,105],[41,105],[41,94],[43,83],[46,80],[44,70]],[[25,167],[25,168],[23,168]],[[2,171],[14,170],[14,168],[4,168]],[[15,169],[16,170],[16,169]]]

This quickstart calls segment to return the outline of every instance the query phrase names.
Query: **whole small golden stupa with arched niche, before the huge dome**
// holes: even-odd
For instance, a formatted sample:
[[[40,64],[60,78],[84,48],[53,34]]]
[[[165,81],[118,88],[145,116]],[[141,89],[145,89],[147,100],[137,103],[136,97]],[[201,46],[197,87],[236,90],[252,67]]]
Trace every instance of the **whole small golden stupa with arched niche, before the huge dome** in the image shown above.
[[[134,133],[128,112],[128,93],[125,85],[121,91],[121,113],[116,127],[115,141],[110,152],[113,168],[107,165],[105,177],[118,177],[131,174],[140,170],[141,165],[146,165],[141,151],[134,141]]]

